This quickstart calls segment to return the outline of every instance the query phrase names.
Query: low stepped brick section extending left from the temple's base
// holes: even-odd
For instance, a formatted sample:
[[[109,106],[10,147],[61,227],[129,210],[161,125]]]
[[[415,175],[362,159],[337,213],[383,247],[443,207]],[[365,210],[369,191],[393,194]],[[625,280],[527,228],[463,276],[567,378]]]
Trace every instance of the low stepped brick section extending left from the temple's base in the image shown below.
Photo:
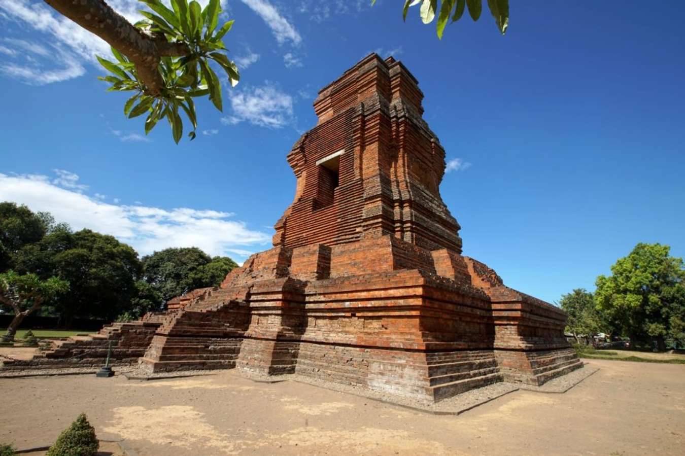
[[[133,366],[145,353],[160,323],[153,321],[116,322],[99,332],[57,340],[48,351],[28,360],[6,360],[3,372],[18,370],[92,368],[105,364],[112,341],[112,366]]]

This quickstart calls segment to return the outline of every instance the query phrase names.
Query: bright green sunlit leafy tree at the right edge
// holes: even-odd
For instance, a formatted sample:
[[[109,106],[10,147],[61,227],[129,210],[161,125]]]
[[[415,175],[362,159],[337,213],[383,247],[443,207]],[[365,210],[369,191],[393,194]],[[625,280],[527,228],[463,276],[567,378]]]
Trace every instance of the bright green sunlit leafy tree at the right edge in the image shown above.
[[[685,268],[670,247],[637,244],[611,266],[612,275],[597,277],[595,303],[632,340],[651,338],[658,349],[666,340],[685,342]]]

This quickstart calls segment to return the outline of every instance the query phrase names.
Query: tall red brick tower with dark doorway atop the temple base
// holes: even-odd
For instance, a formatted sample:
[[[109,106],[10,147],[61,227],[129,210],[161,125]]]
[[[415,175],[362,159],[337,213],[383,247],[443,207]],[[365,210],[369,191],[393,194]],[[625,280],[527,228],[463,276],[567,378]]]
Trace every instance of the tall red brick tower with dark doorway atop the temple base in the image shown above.
[[[295,199],[275,246],[336,245],[391,235],[461,253],[460,226],[440,198],[445,151],[423,121],[414,76],[371,54],[319,92],[319,123],[288,154]]]

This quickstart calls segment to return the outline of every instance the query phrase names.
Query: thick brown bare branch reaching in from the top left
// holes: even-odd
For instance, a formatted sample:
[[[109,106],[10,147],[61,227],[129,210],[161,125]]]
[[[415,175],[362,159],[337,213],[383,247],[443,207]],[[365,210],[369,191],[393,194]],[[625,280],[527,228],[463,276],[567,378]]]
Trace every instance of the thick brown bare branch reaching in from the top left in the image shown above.
[[[160,58],[190,53],[184,43],[171,43],[163,37],[145,34],[104,0],[45,0],[45,3],[123,53],[136,65],[138,77],[153,97],[164,89],[164,79],[158,69]]]

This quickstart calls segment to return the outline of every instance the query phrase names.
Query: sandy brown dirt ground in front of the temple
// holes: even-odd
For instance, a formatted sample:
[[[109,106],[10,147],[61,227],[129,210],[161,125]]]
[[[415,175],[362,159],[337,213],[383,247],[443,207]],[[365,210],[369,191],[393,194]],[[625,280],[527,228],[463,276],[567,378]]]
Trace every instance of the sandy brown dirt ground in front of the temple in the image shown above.
[[[682,455],[685,366],[591,360],[564,394],[518,391],[434,416],[286,381],[222,373],[127,381],[0,379],[0,442],[43,446],[85,411],[147,455]]]

